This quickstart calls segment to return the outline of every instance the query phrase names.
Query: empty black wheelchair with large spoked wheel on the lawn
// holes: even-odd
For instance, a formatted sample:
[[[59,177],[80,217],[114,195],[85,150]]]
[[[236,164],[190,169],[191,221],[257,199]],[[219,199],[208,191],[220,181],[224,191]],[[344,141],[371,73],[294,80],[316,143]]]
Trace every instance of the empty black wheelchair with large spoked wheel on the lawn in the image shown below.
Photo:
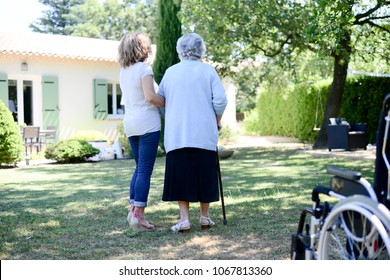
[[[330,185],[313,188],[291,236],[292,260],[390,259],[389,127],[390,94],[379,114],[374,185],[360,172],[328,166]]]

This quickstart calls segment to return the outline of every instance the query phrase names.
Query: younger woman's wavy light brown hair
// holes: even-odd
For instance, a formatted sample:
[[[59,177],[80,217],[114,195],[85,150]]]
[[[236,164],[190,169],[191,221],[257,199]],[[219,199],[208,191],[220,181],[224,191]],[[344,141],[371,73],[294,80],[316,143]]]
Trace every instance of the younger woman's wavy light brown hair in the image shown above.
[[[118,63],[121,67],[129,67],[137,62],[145,61],[151,53],[152,43],[145,33],[128,33],[119,43]]]

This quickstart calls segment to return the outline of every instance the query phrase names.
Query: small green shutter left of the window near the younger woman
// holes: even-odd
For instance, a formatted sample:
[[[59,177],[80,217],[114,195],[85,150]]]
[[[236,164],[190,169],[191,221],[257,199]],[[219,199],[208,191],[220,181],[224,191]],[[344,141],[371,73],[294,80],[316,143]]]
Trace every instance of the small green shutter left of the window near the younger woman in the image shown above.
[[[108,88],[107,80],[95,79],[93,80],[94,91],[94,118],[104,120],[107,118],[108,112]]]

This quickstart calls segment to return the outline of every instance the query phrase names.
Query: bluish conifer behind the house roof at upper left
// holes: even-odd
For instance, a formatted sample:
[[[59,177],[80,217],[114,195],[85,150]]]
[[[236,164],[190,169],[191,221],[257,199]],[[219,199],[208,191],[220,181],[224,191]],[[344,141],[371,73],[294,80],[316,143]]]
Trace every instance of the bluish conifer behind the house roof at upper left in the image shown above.
[[[30,24],[34,32],[70,35],[74,26],[82,18],[72,17],[72,7],[84,4],[85,0],[39,0],[49,9],[43,11],[43,16]]]

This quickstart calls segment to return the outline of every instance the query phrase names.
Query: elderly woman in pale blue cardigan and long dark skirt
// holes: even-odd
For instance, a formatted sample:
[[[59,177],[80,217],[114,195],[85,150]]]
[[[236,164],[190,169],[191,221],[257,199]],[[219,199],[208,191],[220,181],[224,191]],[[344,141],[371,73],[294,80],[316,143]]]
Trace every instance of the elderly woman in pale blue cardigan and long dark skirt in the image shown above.
[[[167,152],[163,201],[177,201],[180,220],[171,230],[189,230],[190,202],[200,202],[200,225],[208,228],[210,202],[219,200],[216,148],[227,105],[215,69],[201,61],[206,46],[196,33],[176,46],[180,62],[167,69],[158,94],[165,98],[164,146]]]

